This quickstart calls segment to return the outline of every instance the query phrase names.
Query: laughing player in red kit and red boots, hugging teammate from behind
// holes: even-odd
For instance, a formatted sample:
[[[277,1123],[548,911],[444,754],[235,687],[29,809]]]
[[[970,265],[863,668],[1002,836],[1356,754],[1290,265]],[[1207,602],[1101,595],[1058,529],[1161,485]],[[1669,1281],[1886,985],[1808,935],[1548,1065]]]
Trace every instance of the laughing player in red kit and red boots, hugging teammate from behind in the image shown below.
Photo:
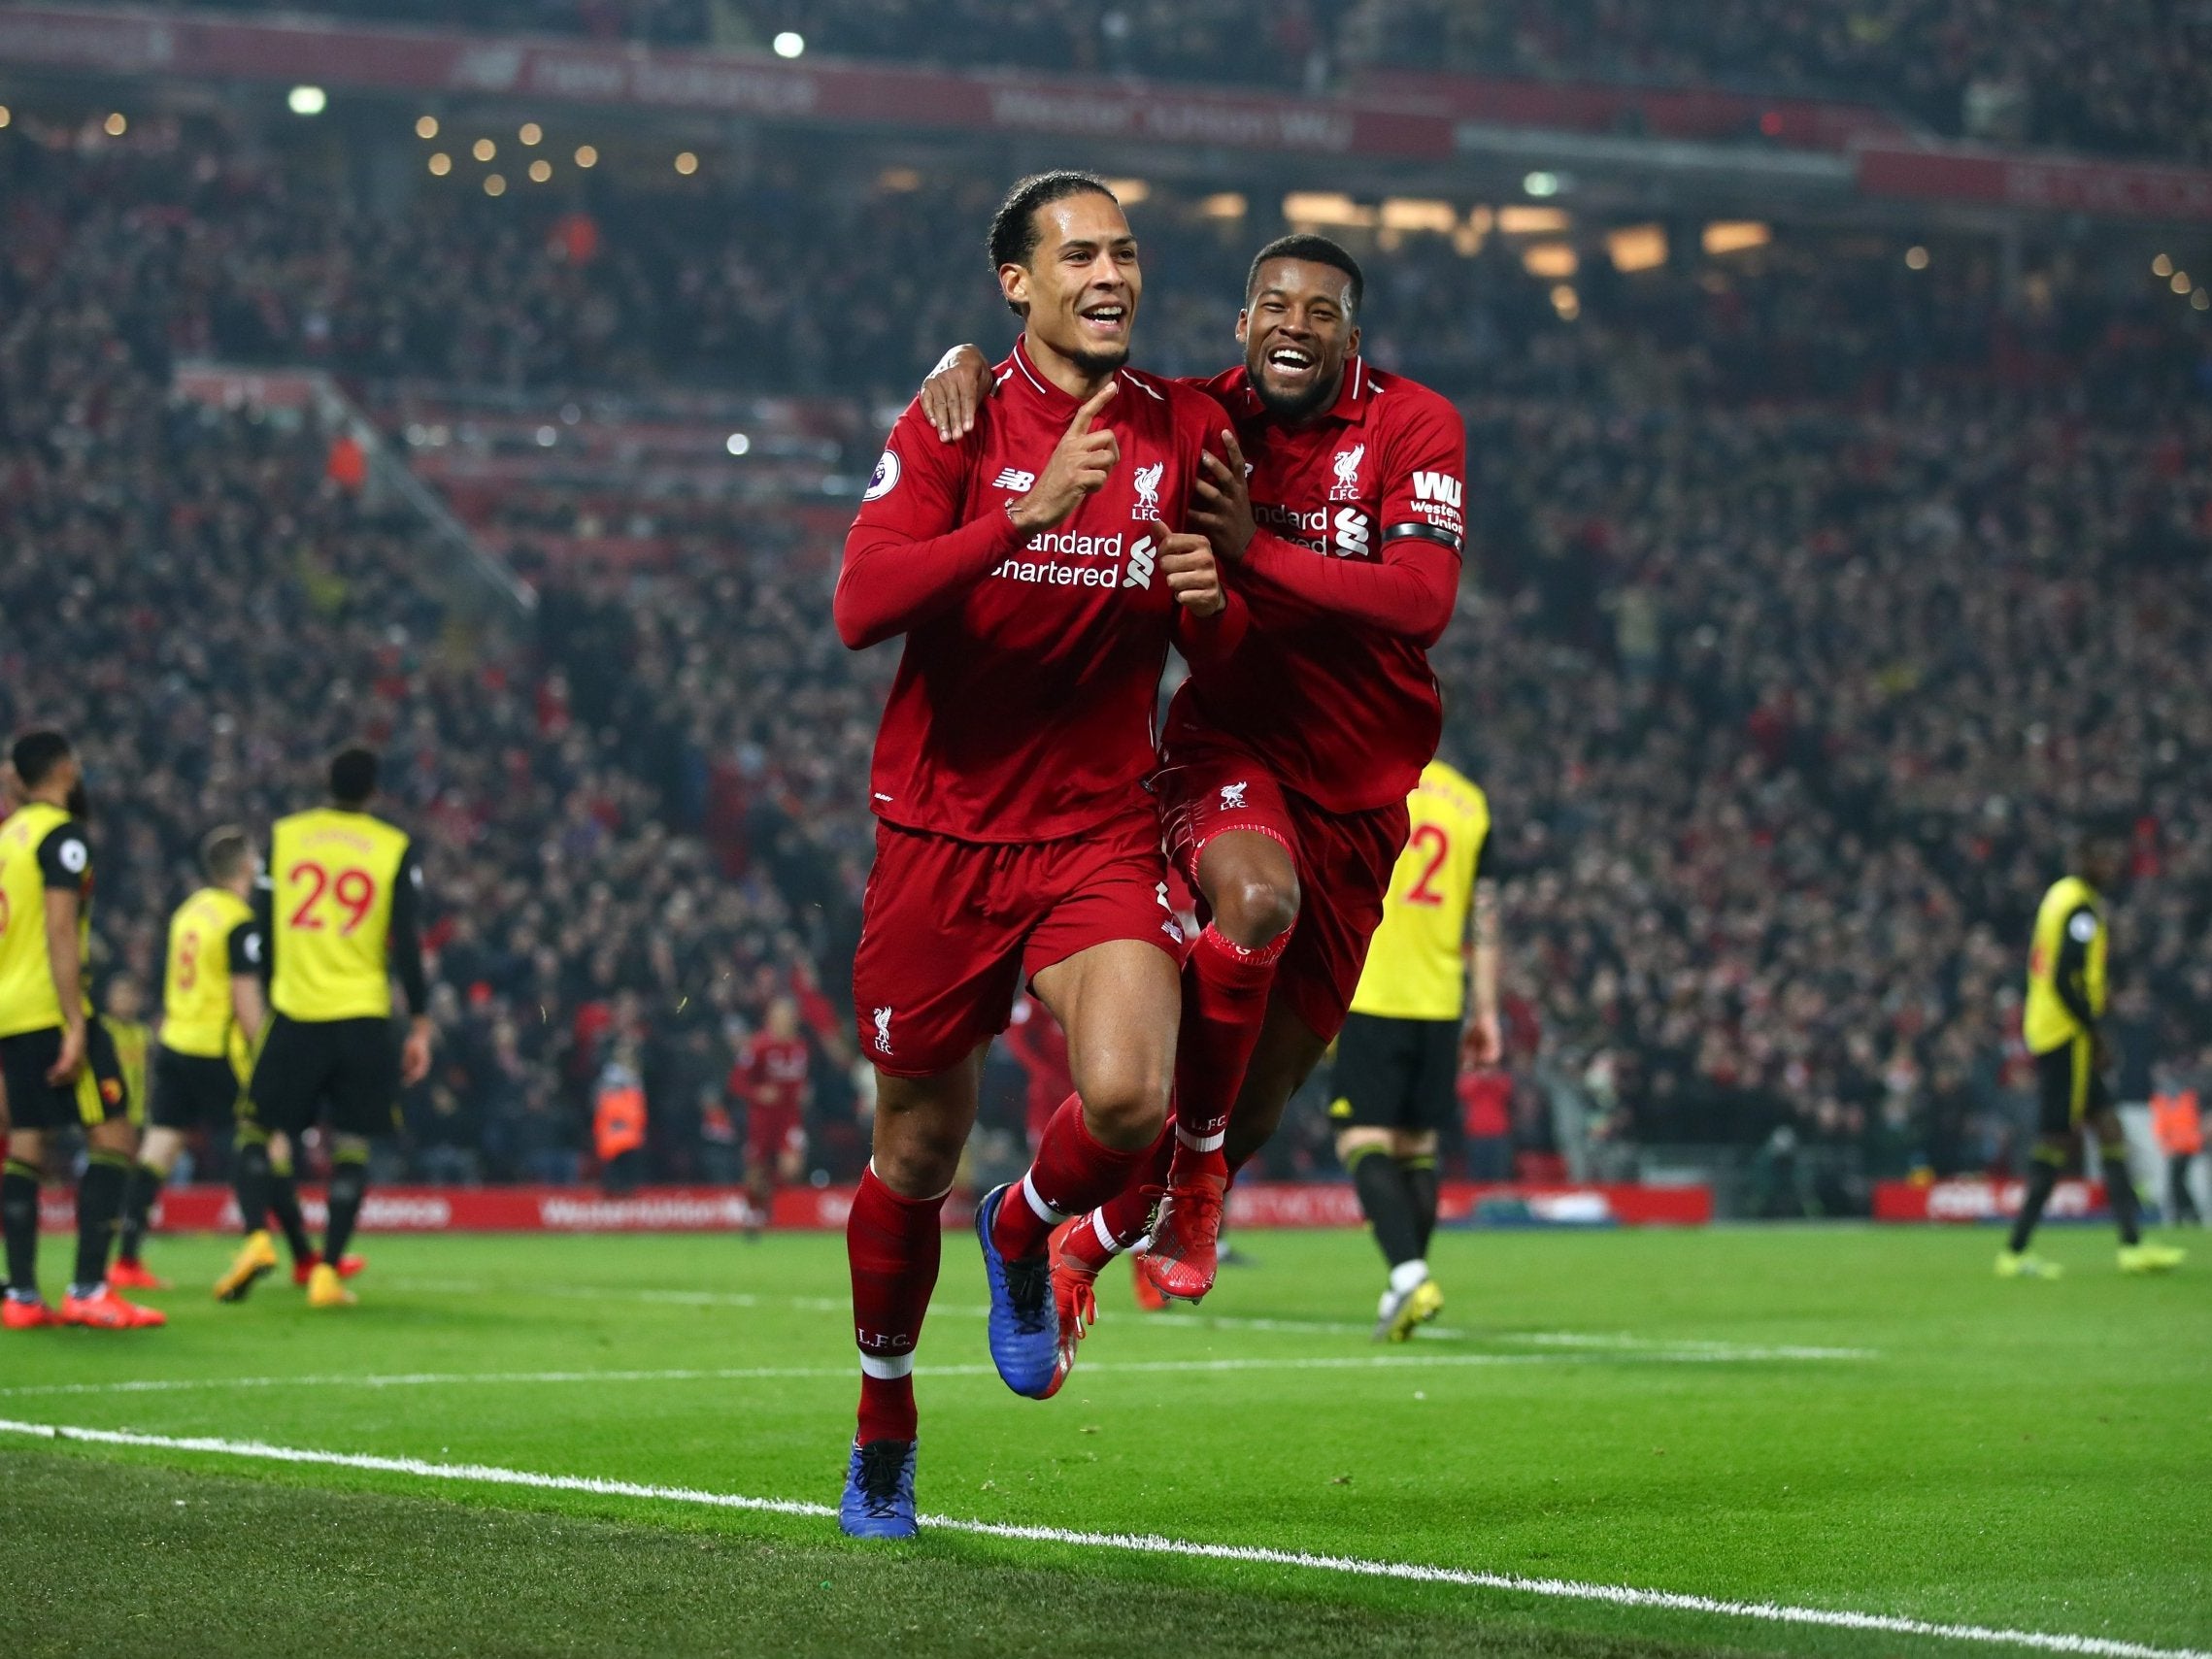
[[[1168,710],[1161,818],[1206,920],[1183,980],[1172,1161],[1064,1234],[1064,1365],[1088,1279],[1146,1234],[1159,1183],[1139,1267],[1168,1296],[1212,1287],[1228,1179],[1345,1020],[1405,799],[1436,754],[1427,650],[1460,586],[1467,427],[1358,356],[1363,288],[1325,237],[1261,248],[1237,319],[1245,361],[1203,383],[1237,429],[1225,460],[1206,460],[1192,524],[1252,619],[1234,664],[1192,661]],[[960,440],[989,398],[980,367],[962,347],[925,387],[940,438]]]

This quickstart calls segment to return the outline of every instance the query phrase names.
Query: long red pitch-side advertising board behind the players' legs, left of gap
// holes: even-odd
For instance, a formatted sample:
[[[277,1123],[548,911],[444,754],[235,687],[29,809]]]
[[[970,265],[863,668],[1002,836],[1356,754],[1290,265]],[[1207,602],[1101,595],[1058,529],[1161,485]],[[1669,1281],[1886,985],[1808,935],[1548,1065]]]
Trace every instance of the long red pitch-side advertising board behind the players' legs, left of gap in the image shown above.
[[[307,1223],[323,1225],[323,1194],[301,1192]],[[790,1230],[841,1230],[852,1188],[792,1188],[776,1194],[774,1223]],[[964,1228],[973,1208],[945,1206],[945,1225]],[[1712,1190],[1701,1186],[1475,1186],[1447,1181],[1440,1194],[1447,1225],[1703,1225]],[[46,1232],[75,1228],[75,1206],[60,1190],[44,1194]],[[228,1188],[170,1188],[155,1208],[168,1232],[237,1232],[239,1206]],[[734,1188],[664,1186],[619,1197],[571,1186],[372,1188],[361,1210],[363,1232],[737,1232],[752,1206]],[[1358,1197],[1345,1183],[1254,1181],[1230,1192],[1237,1228],[1356,1228]]]

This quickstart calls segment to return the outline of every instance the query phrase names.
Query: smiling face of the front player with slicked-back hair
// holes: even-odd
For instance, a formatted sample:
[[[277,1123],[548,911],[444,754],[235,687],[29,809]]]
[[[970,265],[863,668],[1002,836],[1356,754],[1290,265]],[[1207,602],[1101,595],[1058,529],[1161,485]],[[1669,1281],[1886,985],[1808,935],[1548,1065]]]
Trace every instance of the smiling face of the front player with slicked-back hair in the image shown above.
[[[1091,380],[1104,378],[1128,363],[1144,288],[1137,239],[1119,204],[1095,190],[1035,212],[1037,246],[1029,263],[998,268],[1000,290],[1024,314],[1031,356],[1053,354]]]

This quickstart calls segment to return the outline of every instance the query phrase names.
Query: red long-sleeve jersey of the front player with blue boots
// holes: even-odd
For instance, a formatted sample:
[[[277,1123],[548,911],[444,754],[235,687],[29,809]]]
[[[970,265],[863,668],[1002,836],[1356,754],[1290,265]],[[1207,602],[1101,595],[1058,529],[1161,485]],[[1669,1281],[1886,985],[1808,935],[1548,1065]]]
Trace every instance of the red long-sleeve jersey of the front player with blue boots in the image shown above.
[[[1146,801],[1179,617],[1148,522],[1183,524],[1199,451],[1219,449],[1228,416],[1194,387],[1121,369],[1097,420],[1119,465],[1066,522],[1024,538],[1006,502],[1037,482],[1079,403],[1020,343],[995,376],[958,442],[918,403],[898,418],[845,538],[836,624],[856,648],[907,635],[876,734],[876,814],[962,841],[1046,841]]]

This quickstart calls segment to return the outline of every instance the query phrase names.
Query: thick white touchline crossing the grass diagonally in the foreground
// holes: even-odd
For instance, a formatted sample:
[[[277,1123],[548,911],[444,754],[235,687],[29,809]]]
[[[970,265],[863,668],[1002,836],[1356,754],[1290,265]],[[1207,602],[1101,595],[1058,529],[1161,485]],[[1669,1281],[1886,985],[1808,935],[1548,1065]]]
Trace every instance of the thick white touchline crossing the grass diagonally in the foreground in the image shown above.
[[[602,1480],[597,1475],[546,1475],[531,1469],[500,1469],[498,1464],[480,1462],[451,1464],[427,1462],[422,1458],[380,1458],[356,1451],[310,1451],[301,1447],[272,1447],[261,1440],[135,1433],[128,1429],[75,1429],[55,1422],[13,1422],[9,1418],[0,1418],[0,1433],[31,1436],[38,1440],[80,1440],[104,1447],[144,1447],[153,1451],[254,1458],[259,1462],[363,1469],[369,1473],[414,1475],[418,1480],[456,1480],[480,1486],[529,1486],[535,1491],[573,1491],[597,1498],[646,1498],[668,1504],[706,1504],[710,1509],[739,1509],[761,1515],[796,1515],[803,1520],[836,1517],[836,1511],[830,1504],[810,1504],[794,1498],[745,1498],[741,1493],[701,1491],[697,1486],[653,1486],[633,1480]],[[1276,1551],[1256,1544],[1199,1544],[1183,1537],[1161,1537],[1159,1533],[1084,1533],[1066,1526],[1020,1526],[1009,1522],[960,1520],[953,1515],[922,1515],[922,1524],[942,1533],[1006,1537],[1031,1544],[1071,1544],[1075,1548],[1133,1551],[1139,1555],[1181,1555],[1203,1562],[1298,1566],[1316,1573],[1349,1573],[1356,1577],[1402,1579],[1411,1584],[1453,1584],[1471,1590],[1509,1590],[1515,1595],[1542,1595],[1559,1601],[1604,1601],[1619,1608],[1710,1613],[1728,1619],[1756,1619],[1761,1624],[1876,1630],[1882,1635],[1931,1637],[1938,1641],[1975,1641],[2006,1648],[2039,1648],[2044,1652],[2079,1652],[2093,1655],[2095,1659],[2212,1659],[2212,1652],[2199,1648],[2157,1648],[2146,1641],[2117,1641],[2112,1637],[2002,1630],[1986,1624],[1936,1624],[1931,1619],[1907,1619],[1893,1613],[1798,1608],[1781,1601],[1728,1601],[1723,1597],[1688,1595],[1683,1590],[1639,1590],[1628,1584],[1584,1584],[1577,1579],[1531,1579],[1520,1573],[1482,1573],[1464,1566],[1385,1562],[1360,1555],[1318,1555],[1314,1551]]]

